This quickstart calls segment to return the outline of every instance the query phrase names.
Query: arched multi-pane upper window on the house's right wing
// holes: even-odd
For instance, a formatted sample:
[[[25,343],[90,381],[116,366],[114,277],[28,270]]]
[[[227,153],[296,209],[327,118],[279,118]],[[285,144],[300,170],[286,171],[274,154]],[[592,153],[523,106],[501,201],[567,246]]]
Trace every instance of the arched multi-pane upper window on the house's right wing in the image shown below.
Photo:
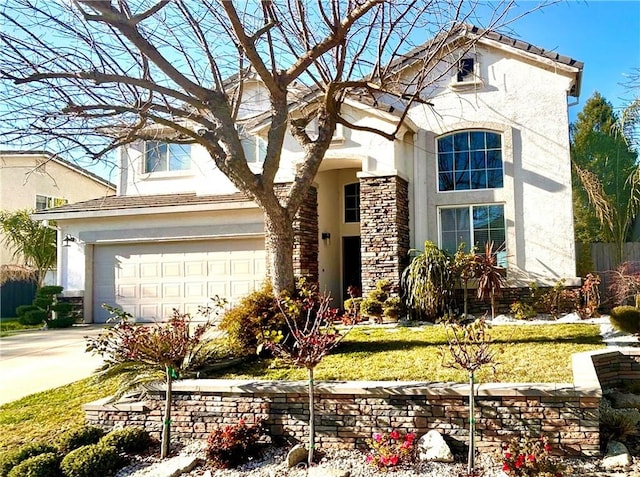
[[[503,186],[502,138],[490,131],[464,131],[438,139],[438,191]]]

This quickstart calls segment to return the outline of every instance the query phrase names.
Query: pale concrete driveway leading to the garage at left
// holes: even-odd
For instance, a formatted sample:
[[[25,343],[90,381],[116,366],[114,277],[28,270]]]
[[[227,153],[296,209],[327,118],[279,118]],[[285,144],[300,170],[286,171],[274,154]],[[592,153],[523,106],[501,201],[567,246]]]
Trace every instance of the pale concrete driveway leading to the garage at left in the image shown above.
[[[90,376],[102,358],[85,353],[85,336],[104,325],[26,331],[0,338],[0,405]]]

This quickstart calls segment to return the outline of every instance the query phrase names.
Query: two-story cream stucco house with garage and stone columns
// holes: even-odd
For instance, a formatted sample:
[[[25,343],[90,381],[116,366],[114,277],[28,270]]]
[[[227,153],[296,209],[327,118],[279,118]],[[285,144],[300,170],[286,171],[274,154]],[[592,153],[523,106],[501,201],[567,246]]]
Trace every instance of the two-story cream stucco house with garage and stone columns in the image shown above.
[[[426,48],[407,55],[401,74]],[[426,240],[451,252],[493,241],[512,287],[579,283],[567,109],[582,63],[499,34],[449,51],[441,66],[453,71],[429,91],[432,106],[412,107],[395,141],[338,126],[299,213],[297,271],[336,305],[348,285],[397,283],[409,250]],[[244,91],[260,105],[259,83]],[[351,98],[343,108],[357,124],[393,130],[399,121],[382,101]],[[256,167],[263,137],[258,125],[245,140]],[[292,180],[301,157],[289,137],[278,182]],[[174,307],[192,312],[214,294],[235,300],[261,284],[263,215],[203,148],[140,143],[120,161],[117,196],[38,214],[79,239],[63,251],[62,284],[84,291],[85,316],[104,321],[100,305],[109,303],[165,319]]]

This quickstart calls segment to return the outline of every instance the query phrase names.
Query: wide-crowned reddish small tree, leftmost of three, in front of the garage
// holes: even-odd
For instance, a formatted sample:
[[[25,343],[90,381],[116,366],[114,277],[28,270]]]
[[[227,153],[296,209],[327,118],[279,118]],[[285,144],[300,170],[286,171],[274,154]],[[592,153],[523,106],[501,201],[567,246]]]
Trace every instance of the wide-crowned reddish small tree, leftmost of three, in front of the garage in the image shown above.
[[[222,304],[223,301],[218,302],[219,307]],[[114,311],[113,308],[110,310]],[[202,310],[211,311],[210,308]],[[171,441],[173,380],[187,371],[198,369],[213,355],[215,348],[207,331],[215,324],[207,320],[191,326],[191,316],[175,309],[167,323],[153,326],[135,325],[126,319],[130,315],[119,314],[125,319],[98,336],[87,338],[86,350],[101,355],[105,360],[103,370],[97,374],[98,379],[124,376],[116,398],[145,385],[165,381],[160,450],[160,457],[165,458],[169,454]]]

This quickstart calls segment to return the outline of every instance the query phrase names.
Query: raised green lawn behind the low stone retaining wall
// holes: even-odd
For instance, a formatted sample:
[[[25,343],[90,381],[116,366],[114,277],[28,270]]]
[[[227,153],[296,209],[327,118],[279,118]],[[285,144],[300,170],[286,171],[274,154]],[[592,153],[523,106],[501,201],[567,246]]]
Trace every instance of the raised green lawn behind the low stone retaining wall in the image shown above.
[[[571,354],[603,348],[598,325],[521,325],[491,329],[498,364],[480,382],[570,382]],[[355,328],[316,368],[317,380],[466,382],[466,373],[442,366],[446,336],[426,328]],[[306,371],[259,359],[212,376],[226,379],[305,379]]]

